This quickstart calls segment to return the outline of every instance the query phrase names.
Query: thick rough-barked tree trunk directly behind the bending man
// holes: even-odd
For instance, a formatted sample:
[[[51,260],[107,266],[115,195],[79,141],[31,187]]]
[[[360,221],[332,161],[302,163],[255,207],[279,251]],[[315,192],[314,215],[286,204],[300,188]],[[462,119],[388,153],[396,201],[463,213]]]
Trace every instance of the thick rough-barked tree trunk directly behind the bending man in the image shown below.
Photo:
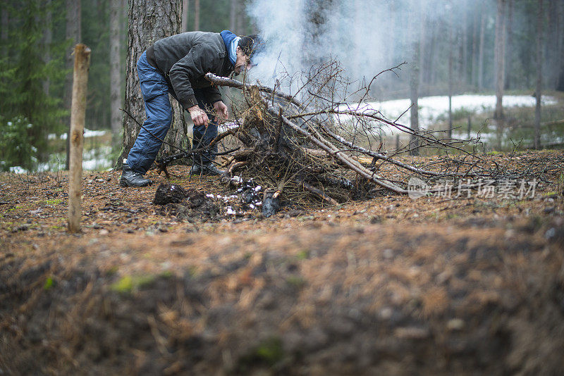
[[[180,11],[182,0],[130,0],[128,4],[128,57],[126,61],[125,110],[137,121],[145,120],[145,108],[137,76],[137,60],[154,42],[180,32]],[[183,112],[178,102],[171,97],[173,120],[171,129],[166,135],[166,142],[176,146],[184,146],[186,129]],[[121,167],[123,158],[127,158],[129,150],[135,143],[140,127],[128,116],[123,117],[123,146],[121,158],[116,167]],[[163,144],[159,153],[170,153],[176,149]],[[161,155],[161,154],[160,154]],[[159,158],[159,157],[157,157]]]

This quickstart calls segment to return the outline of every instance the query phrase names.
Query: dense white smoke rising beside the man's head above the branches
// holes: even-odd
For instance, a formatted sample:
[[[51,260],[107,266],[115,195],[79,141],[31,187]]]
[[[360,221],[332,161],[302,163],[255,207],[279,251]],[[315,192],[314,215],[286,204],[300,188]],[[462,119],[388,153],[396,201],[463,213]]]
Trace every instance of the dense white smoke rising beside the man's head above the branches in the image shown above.
[[[378,22],[386,11],[381,0],[252,1],[247,12],[266,42],[250,78],[273,85],[277,78],[296,78],[329,58],[340,61],[351,80],[372,77],[389,68],[383,47],[390,31]],[[312,13],[318,23],[312,22]]]

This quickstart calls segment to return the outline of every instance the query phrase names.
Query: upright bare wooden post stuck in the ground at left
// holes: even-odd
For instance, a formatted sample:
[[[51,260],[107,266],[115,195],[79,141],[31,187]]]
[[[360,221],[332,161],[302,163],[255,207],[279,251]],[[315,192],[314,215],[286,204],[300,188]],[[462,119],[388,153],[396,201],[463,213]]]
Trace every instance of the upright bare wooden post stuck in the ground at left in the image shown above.
[[[73,101],[71,105],[70,161],[68,171],[68,232],[80,232],[80,195],[82,194],[82,147],[86,113],[86,86],[90,66],[90,49],[84,44],[75,46],[73,73]]]

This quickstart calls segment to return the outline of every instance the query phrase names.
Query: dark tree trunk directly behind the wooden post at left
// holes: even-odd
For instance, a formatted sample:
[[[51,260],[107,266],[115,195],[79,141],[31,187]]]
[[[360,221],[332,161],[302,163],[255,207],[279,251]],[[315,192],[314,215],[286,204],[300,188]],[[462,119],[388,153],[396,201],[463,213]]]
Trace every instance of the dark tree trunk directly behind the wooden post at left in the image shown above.
[[[65,78],[65,94],[63,95],[63,105],[69,115],[65,121],[68,123],[68,132],[66,137],[66,163],[65,169],[68,170],[69,148],[71,140],[71,102],[73,100],[73,65],[74,65],[74,46],[80,43],[80,0],[66,0],[66,39],[71,40],[71,44],[66,51],[66,68],[68,73]]]

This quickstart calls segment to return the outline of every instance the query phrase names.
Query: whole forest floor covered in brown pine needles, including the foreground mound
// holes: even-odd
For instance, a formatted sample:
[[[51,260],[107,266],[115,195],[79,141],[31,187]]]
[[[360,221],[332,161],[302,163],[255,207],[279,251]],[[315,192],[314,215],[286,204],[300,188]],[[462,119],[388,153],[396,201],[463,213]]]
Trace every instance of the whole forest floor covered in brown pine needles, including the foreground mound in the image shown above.
[[[153,172],[139,189],[88,172],[76,235],[66,174],[0,175],[0,374],[561,372],[564,153],[488,158],[541,176],[534,196],[263,218],[183,166],[168,183],[197,205],[152,203]]]

